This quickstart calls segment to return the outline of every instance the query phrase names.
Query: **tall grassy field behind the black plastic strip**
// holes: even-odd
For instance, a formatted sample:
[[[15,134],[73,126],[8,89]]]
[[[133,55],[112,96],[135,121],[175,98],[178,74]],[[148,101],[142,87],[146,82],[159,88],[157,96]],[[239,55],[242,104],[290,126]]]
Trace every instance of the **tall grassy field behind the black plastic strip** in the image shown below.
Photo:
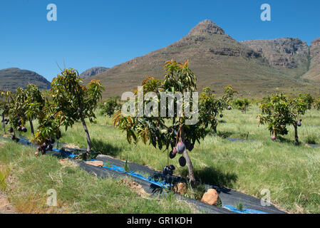
[[[286,137],[273,142],[265,126],[258,128],[258,113],[257,106],[250,107],[247,113],[224,111],[217,127],[218,135],[207,135],[190,152],[197,180],[224,185],[255,197],[262,197],[261,190],[268,189],[272,203],[287,212],[320,213],[320,147],[305,146],[306,143],[320,144],[320,112],[309,110],[302,117],[300,146],[294,145],[293,127],[289,127]],[[155,170],[167,165],[167,152],[141,142],[130,145],[125,133],[110,125],[111,119],[105,116],[98,116],[97,123],[88,123],[94,150],[121,160],[128,155],[130,162]],[[230,142],[228,137],[252,141]],[[82,125],[78,123],[68,129],[61,141],[86,147]],[[46,160],[49,162],[53,158],[45,156],[33,162]],[[187,177],[187,167],[180,167],[177,158],[170,160],[170,164],[177,167],[175,175]]]

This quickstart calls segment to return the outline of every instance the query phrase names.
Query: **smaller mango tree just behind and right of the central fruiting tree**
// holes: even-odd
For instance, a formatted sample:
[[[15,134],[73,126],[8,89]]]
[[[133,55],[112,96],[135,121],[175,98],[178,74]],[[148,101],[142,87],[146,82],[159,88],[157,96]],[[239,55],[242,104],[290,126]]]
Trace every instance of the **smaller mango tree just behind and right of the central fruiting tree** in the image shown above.
[[[232,86],[224,88],[222,98],[217,98],[210,87],[205,87],[202,90],[199,98],[200,122],[205,125],[205,128],[210,126],[215,134],[217,134],[218,117],[222,118],[222,111],[226,108],[231,108],[234,93],[237,93]]]

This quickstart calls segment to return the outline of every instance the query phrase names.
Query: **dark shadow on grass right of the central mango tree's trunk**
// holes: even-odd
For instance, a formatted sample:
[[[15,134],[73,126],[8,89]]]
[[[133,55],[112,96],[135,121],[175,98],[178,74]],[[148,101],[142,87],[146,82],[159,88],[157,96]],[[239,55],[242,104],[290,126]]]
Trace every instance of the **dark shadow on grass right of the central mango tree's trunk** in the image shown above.
[[[224,173],[212,167],[205,167],[201,170],[194,170],[195,179],[197,181],[218,186],[227,186],[232,188],[234,183],[237,181],[237,175],[234,173]],[[189,174],[188,170],[185,169],[182,172],[183,177],[187,177]]]

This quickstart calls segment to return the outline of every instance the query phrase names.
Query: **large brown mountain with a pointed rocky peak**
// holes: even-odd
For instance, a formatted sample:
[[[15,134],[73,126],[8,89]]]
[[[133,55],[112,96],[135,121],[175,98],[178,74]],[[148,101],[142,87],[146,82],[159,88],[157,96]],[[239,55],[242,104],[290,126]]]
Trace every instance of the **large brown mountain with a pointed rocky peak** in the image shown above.
[[[210,20],[197,24],[180,41],[114,66],[95,78],[105,86],[104,96],[121,95],[140,86],[145,75],[162,79],[163,65],[172,58],[179,62],[189,59],[198,90],[210,86],[219,94],[224,86],[232,85],[240,96],[254,98],[280,90],[288,94],[319,92],[315,83],[302,78],[311,65],[304,41],[279,38],[238,42]]]

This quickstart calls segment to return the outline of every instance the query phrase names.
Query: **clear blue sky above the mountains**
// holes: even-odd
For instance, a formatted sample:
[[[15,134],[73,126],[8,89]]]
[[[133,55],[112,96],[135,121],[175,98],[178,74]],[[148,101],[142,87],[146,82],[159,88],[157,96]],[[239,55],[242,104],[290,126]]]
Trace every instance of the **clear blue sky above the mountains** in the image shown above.
[[[51,3],[57,21],[46,19]],[[260,20],[264,3],[272,21]],[[28,69],[51,81],[63,60],[80,73],[112,67],[178,41],[204,19],[237,41],[297,37],[309,44],[320,36],[320,1],[1,0],[0,69]]]

